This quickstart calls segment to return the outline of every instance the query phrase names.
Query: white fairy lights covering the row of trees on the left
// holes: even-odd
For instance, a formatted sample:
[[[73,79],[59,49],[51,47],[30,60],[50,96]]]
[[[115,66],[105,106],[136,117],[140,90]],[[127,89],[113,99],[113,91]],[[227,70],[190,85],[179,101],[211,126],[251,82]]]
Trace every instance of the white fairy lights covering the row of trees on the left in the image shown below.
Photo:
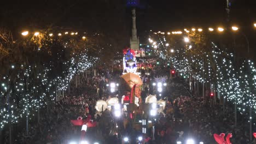
[[[38,37],[39,34],[34,33],[34,36]],[[28,35],[28,32],[25,35]],[[47,47],[49,44],[43,46]],[[8,73],[0,77],[1,128],[9,123],[18,123],[22,117],[31,119],[40,107],[56,100],[58,91],[65,91],[68,88],[74,75],[89,69],[98,61],[97,57],[89,56],[86,51],[79,54],[73,53],[71,58],[65,59],[63,55],[65,49],[71,45],[68,45],[68,42],[61,44],[60,51],[57,52],[58,62],[53,59],[45,62],[36,59],[40,65],[22,62],[11,64]],[[40,47],[40,51],[43,51],[43,46]],[[56,64],[61,65],[59,68],[61,73],[56,71]]]

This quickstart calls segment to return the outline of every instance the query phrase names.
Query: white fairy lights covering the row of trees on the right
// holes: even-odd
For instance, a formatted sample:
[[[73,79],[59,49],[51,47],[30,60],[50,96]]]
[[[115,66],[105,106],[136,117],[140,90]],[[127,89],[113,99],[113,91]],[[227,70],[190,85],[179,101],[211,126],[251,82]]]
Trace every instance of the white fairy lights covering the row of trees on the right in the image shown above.
[[[201,51],[200,54],[191,52],[193,49],[187,44],[174,50],[168,42],[171,43],[161,32],[149,37],[155,56],[171,63],[184,78],[191,74],[200,82],[211,83],[211,86],[216,86],[213,91],[219,92],[227,101],[236,103],[241,112],[245,112],[248,107],[256,109],[256,69],[252,61],[247,60],[241,68],[237,68],[234,55],[220,50],[213,41],[212,51]]]

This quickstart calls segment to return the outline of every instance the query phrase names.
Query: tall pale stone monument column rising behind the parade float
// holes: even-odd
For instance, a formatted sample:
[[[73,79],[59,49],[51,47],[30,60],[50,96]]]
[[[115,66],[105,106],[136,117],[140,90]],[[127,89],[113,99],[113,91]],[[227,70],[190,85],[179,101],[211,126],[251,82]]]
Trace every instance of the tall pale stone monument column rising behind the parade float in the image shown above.
[[[139,50],[139,38],[137,37],[135,8],[132,9],[132,36],[130,39],[130,46],[133,50]]]

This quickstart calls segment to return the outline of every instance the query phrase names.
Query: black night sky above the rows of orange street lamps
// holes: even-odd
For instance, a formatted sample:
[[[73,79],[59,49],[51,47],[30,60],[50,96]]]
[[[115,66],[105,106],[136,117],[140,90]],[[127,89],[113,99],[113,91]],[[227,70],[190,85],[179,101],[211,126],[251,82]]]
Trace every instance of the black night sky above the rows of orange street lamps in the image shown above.
[[[14,0],[1,5],[0,26],[11,29],[14,35],[22,29],[68,28],[113,35],[129,45],[131,8],[124,0]],[[141,0],[137,8],[138,35],[143,38],[149,29],[170,31],[235,23],[253,39],[255,34],[249,32],[256,21],[256,1],[231,1],[230,23],[226,21],[225,5],[225,0]]]

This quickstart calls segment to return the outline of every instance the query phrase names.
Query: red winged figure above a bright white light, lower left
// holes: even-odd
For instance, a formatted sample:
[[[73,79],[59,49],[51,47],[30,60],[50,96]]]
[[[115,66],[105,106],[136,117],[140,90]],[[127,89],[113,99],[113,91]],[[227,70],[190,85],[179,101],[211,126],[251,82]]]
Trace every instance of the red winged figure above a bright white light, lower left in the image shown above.
[[[91,121],[91,115],[88,115],[88,117],[84,120],[82,117],[78,117],[75,120],[71,120],[71,123],[73,125],[82,126],[80,141],[84,140],[84,136],[85,136],[87,128],[96,127],[96,125],[97,125],[97,122]]]

